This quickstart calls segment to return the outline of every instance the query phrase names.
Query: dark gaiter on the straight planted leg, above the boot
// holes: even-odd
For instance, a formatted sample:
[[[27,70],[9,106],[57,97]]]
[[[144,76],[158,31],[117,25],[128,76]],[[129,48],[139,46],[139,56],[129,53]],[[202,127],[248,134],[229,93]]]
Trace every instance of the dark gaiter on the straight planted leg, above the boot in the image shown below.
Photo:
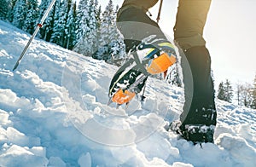
[[[185,72],[188,64],[182,63],[184,78],[185,104],[180,116],[185,124],[216,124],[214,88],[211,76],[211,58],[205,46],[195,46],[185,50],[183,59],[187,59],[192,73]],[[191,85],[192,84],[192,85]]]

